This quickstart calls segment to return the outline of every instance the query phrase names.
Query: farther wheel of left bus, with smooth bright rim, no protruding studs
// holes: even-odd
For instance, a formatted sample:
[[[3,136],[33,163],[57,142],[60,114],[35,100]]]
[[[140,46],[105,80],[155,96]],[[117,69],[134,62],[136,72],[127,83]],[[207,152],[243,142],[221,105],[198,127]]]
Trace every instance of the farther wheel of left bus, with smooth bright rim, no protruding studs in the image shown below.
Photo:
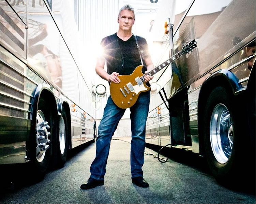
[[[67,160],[67,150],[68,150],[68,141],[69,141],[69,127],[68,127],[67,121],[68,120],[67,120],[65,108],[62,107],[61,116],[59,117],[58,134],[54,142],[54,148],[55,148],[54,157],[55,157],[55,165],[57,168],[63,167]],[[63,128],[63,125],[64,125],[64,128]],[[61,133],[62,133],[62,139],[64,141],[63,140],[60,141]]]

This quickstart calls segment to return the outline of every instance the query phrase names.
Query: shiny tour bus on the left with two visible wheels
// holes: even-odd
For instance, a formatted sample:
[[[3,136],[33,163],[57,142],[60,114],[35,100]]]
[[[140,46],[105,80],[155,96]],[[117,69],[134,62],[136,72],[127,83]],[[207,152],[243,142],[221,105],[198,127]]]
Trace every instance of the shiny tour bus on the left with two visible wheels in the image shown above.
[[[30,162],[39,175],[94,141],[93,93],[67,3],[0,0],[1,165]]]

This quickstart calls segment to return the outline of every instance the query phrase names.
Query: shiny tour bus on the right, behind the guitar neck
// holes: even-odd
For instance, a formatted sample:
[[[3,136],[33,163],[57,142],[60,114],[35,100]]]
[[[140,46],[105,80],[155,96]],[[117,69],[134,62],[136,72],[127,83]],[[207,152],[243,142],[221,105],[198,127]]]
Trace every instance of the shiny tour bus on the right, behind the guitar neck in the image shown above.
[[[255,173],[255,1],[182,2],[166,34],[163,22],[158,64],[196,48],[155,77],[166,105],[151,97],[146,143],[198,153],[223,181],[250,164]]]

